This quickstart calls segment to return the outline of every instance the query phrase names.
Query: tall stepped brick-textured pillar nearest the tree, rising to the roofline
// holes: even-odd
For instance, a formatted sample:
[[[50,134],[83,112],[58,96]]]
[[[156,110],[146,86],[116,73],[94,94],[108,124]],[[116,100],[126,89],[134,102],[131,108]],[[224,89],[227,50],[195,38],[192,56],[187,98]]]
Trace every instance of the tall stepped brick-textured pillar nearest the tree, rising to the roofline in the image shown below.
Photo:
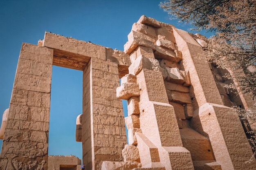
[[[198,57],[203,53],[202,47],[186,31],[173,29],[173,33],[182,51],[185,71],[189,71],[191,78],[195,109],[191,126],[209,137],[223,170],[252,170],[256,163],[246,163],[253,153],[239,117],[234,109],[223,106],[209,64]]]

